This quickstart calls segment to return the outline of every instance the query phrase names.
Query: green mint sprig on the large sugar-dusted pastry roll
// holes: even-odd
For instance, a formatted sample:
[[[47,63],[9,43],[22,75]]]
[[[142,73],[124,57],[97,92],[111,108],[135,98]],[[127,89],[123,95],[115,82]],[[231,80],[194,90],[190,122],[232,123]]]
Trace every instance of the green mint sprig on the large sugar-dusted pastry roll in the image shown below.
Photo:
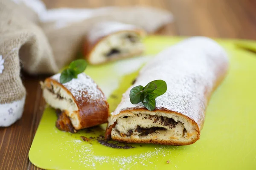
[[[139,85],[131,89],[130,101],[132,104],[142,102],[149,111],[156,108],[156,98],[167,91],[166,82],[163,80],[154,80],[145,87]]]

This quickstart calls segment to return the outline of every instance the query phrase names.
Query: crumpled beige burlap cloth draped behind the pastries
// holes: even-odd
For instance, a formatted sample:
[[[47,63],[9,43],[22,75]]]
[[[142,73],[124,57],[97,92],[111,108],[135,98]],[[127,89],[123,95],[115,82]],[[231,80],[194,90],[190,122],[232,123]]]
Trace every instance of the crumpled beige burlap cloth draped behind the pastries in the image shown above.
[[[0,73],[0,112],[2,104],[18,101],[26,95],[20,79],[21,68],[29,74],[57,73],[75,59],[94,23],[115,20],[151,32],[170,19],[168,12],[151,8],[112,7],[78,12],[47,10],[42,5],[39,12],[28,2],[31,0],[0,0],[0,55],[4,61]]]

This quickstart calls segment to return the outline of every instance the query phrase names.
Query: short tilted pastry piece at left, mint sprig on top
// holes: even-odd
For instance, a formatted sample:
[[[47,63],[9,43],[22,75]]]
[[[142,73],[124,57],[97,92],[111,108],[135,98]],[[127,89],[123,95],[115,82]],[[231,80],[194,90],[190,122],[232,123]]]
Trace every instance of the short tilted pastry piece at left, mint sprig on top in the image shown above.
[[[81,73],[77,79],[61,84],[60,75],[41,83],[45,101],[58,110],[56,127],[74,133],[107,122],[108,102],[93,79]]]

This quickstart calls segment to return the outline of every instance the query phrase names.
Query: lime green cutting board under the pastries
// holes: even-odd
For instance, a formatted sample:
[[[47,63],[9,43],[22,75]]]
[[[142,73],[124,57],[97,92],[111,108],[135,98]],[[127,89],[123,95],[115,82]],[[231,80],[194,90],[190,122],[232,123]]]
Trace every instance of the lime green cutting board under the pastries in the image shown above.
[[[122,93],[137,76],[137,70],[164,48],[182,37],[150,36],[145,39],[146,54],[88,66],[85,71],[109,96],[111,111]],[[188,146],[131,144],[132,149],[113,149],[96,139],[84,142],[80,136],[104,134],[105,126],[71,134],[55,127],[55,111],[47,107],[29,151],[37,167],[51,170],[78,169],[256,169],[256,42],[217,40],[230,59],[228,75],[212,95],[200,139]],[[185,47],[184,47],[185,48]],[[167,161],[169,163],[167,163]]]

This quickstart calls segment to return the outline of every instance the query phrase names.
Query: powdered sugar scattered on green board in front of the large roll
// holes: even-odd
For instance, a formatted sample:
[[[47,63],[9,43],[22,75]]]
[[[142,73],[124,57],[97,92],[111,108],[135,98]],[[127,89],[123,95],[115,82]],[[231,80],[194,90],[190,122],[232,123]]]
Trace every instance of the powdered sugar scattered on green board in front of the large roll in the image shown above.
[[[138,153],[133,152],[131,156],[118,156],[119,154],[116,156],[106,156],[105,154],[95,153],[93,145],[84,144],[84,142],[81,144],[72,141],[62,143],[60,149],[66,150],[66,147],[62,146],[73,148],[69,152],[70,155],[67,155],[70,161],[76,162],[80,167],[90,169],[96,169],[96,164],[104,165],[107,163],[113,163],[116,167],[123,169],[129,169],[136,164],[142,164],[144,167],[151,167],[155,164],[155,162],[153,162],[154,159],[168,159],[171,154],[177,155],[176,149],[180,150],[180,148],[176,146],[172,147],[172,149],[168,149],[169,146],[156,146],[154,148],[148,148],[148,150],[144,148],[145,151],[142,153],[141,151]],[[136,150],[136,148],[134,148],[134,150]],[[113,150],[111,150],[111,152],[113,152]]]

